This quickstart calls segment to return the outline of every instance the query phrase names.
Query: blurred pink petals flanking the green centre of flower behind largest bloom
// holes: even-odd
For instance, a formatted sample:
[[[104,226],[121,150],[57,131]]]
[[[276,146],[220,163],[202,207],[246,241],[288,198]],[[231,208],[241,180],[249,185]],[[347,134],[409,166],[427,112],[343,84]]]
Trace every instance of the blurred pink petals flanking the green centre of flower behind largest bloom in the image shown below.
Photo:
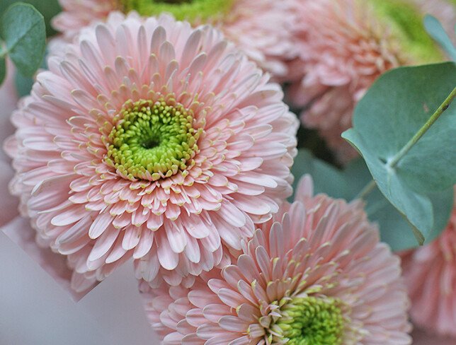
[[[122,1],[113,0],[59,0],[62,13],[52,25],[71,40],[79,30],[91,23],[106,21],[113,11],[124,11]],[[297,0],[232,0],[226,13],[215,12],[203,23],[199,19],[193,26],[210,23],[219,28],[228,40],[236,43],[258,66],[270,72],[276,80],[287,79],[290,71],[286,62],[297,57],[292,29],[300,18]],[[170,6],[180,6],[172,4]],[[182,6],[188,6],[183,4]],[[190,5],[191,6],[191,5]],[[132,3],[133,10],[140,10]],[[110,14],[111,13],[111,14]],[[146,16],[151,13],[141,13]],[[156,14],[156,13],[152,13]]]

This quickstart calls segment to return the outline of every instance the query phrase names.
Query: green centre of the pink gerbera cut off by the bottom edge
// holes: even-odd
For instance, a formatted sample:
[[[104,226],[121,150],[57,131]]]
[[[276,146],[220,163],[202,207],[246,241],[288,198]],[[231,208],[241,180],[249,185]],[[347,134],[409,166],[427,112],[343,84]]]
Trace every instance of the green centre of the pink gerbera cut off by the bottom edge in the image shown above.
[[[289,345],[342,344],[344,319],[334,298],[295,298],[283,307],[277,325]]]

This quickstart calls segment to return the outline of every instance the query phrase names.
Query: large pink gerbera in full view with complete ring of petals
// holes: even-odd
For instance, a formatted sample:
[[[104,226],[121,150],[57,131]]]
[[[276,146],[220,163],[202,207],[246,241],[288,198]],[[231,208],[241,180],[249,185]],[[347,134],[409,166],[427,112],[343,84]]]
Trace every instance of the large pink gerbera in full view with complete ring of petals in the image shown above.
[[[133,257],[180,283],[291,194],[297,119],[217,30],[113,13],[52,54],[13,114],[11,190],[85,279]]]

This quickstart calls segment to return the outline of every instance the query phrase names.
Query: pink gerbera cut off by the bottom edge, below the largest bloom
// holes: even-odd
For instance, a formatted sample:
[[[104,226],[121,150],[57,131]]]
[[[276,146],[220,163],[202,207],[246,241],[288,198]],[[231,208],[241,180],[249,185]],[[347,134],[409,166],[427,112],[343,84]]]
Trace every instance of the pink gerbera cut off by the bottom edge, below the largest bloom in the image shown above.
[[[163,344],[410,344],[399,258],[359,201],[319,194],[304,177],[236,264],[192,288],[141,283]]]

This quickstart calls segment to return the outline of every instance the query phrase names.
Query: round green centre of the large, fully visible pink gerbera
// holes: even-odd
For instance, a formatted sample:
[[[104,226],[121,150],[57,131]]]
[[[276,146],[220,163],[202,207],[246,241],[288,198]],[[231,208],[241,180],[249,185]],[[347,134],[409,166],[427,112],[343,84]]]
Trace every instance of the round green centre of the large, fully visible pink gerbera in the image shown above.
[[[180,103],[129,101],[113,123],[105,160],[127,179],[155,181],[194,164],[203,129],[193,128],[193,112]]]

